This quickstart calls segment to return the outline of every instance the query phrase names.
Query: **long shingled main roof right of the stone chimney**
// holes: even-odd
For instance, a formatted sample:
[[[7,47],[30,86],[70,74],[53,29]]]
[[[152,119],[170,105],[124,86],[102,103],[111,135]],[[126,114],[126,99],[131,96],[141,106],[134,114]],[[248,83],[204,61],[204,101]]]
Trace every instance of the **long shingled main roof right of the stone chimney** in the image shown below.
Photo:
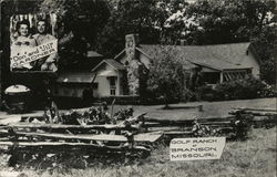
[[[233,69],[248,69],[247,64],[243,64],[246,60],[249,50],[249,42],[230,43],[230,44],[215,44],[215,45],[150,45],[141,44],[137,50],[146,56],[157,58],[156,51],[167,48],[178,53],[178,58],[183,62],[208,66],[215,70],[233,70]],[[244,62],[245,63],[245,62]]]

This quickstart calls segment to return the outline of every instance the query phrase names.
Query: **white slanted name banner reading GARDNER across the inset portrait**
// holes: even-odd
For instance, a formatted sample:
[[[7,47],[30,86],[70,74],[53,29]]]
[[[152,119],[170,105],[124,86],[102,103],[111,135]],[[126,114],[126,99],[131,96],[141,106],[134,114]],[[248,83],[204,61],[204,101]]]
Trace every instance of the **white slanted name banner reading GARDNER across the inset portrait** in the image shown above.
[[[11,52],[11,67],[19,67],[28,65],[29,63],[39,59],[58,52],[58,40],[45,42],[39,46],[33,48],[12,48]]]

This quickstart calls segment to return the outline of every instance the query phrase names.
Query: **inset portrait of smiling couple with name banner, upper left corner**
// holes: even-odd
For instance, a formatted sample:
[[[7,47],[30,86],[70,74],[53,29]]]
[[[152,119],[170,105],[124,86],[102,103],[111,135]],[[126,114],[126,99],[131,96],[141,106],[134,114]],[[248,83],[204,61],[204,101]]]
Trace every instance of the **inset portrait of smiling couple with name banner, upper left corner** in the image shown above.
[[[10,71],[57,72],[58,18],[55,13],[10,17]]]

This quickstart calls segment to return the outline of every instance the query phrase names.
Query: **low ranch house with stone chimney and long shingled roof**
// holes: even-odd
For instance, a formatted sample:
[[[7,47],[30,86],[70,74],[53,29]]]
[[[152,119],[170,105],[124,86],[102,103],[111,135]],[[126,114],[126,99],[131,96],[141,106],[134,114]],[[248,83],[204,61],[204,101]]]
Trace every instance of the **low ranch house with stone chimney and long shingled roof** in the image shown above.
[[[259,59],[249,42],[215,45],[153,45],[138,43],[138,35],[125,37],[125,49],[114,59],[101,58],[82,72],[60,74],[55,96],[93,97],[138,96],[141,75],[147,73],[158,51],[170,48],[177,53],[188,73],[201,67],[206,84],[215,85],[248,74],[259,77]],[[94,60],[94,59],[91,59]],[[189,79],[188,79],[189,80]]]

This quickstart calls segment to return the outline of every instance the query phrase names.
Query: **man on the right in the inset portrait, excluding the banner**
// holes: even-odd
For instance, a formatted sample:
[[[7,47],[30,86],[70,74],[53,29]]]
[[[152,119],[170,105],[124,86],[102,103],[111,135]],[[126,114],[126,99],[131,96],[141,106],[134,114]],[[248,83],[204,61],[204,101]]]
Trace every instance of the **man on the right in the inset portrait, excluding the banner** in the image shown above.
[[[45,42],[53,41],[55,38],[47,32],[48,24],[45,20],[38,20],[37,22],[37,31],[38,33],[33,35],[33,39],[37,42],[37,45],[41,45]],[[52,71],[55,72],[57,67],[57,53],[50,54],[38,61],[34,61],[34,70],[35,71]]]

